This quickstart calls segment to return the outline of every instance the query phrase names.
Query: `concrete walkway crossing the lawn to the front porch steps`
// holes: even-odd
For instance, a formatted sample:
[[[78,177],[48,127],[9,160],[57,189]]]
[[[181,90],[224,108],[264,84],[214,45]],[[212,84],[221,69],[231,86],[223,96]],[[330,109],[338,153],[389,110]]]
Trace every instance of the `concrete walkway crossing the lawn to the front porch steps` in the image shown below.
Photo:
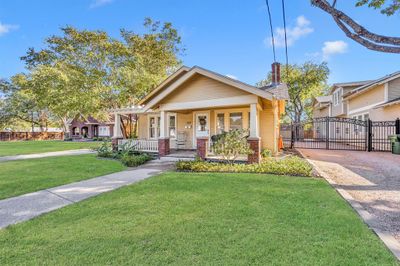
[[[170,161],[153,160],[134,169],[0,200],[0,228],[136,183],[173,166]]]

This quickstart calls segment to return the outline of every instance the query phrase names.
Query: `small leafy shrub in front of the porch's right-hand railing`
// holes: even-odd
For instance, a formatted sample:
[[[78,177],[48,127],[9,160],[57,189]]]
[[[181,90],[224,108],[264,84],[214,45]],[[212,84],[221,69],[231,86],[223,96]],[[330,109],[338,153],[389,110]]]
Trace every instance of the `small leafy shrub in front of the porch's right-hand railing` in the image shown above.
[[[219,135],[217,141],[213,144],[213,150],[216,155],[220,155],[227,163],[233,164],[239,155],[253,154],[247,143],[247,130],[231,130]]]

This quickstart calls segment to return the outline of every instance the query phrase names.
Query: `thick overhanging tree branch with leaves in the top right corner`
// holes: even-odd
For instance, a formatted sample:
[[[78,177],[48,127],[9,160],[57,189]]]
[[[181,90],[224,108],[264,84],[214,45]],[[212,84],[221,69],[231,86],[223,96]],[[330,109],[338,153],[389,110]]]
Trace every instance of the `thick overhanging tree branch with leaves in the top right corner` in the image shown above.
[[[344,0],[342,0],[344,1]],[[346,0],[348,1],[348,0]],[[400,37],[385,36],[374,33],[359,24],[348,14],[336,8],[338,0],[311,0],[311,3],[332,16],[333,20],[347,37],[353,39],[368,49],[400,53]],[[400,0],[357,0],[356,6],[368,5],[379,9],[381,13],[391,16],[400,10]]]

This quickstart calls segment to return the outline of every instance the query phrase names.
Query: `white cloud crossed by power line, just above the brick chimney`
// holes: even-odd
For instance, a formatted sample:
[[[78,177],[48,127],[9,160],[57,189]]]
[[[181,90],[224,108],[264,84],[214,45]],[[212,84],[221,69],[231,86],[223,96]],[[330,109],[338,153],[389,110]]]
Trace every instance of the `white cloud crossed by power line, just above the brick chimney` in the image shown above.
[[[286,35],[287,35],[287,44],[288,46],[292,46],[297,40],[302,37],[307,36],[312,33],[314,29],[310,26],[311,22],[305,16],[299,16],[296,19],[296,26],[287,27]],[[284,28],[276,28],[275,29],[275,46],[276,47],[285,47],[285,29]],[[268,46],[272,45],[272,38],[266,38],[264,43]]]

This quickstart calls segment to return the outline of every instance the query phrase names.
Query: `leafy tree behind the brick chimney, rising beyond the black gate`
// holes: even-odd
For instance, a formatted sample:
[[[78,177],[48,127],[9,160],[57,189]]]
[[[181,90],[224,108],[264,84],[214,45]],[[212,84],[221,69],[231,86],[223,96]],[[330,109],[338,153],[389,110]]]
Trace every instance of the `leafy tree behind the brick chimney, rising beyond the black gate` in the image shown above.
[[[328,76],[326,63],[306,62],[282,67],[282,81],[287,84],[290,97],[286,105],[285,120],[300,122],[311,117],[312,99],[325,93]],[[270,82],[271,73],[257,85],[265,86]]]

